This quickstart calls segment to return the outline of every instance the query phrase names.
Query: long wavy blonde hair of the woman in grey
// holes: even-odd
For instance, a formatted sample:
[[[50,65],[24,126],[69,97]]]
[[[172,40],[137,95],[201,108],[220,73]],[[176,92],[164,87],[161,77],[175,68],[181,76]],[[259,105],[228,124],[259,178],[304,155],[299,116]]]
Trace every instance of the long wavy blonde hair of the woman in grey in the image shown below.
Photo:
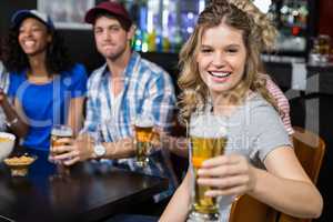
[[[178,80],[182,93],[180,94],[180,115],[189,120],[192,112],[204,108],[209,99],[209,90],[202,81],[196,56],[199,53],[203,32],[219,26],[221,22],[242,30],[243,42],[246,48],[244,75],[232,90],[230,99],[242,102],[249,90],[259,92],[276,110],[276,101],[265,88],[265,79],[259,74],[263,70],[260,53],[263,49],[272,49],[276,30],[266,17],[249,0],[213,0],[200,13],[193,33],[180,52],[181,73]]]

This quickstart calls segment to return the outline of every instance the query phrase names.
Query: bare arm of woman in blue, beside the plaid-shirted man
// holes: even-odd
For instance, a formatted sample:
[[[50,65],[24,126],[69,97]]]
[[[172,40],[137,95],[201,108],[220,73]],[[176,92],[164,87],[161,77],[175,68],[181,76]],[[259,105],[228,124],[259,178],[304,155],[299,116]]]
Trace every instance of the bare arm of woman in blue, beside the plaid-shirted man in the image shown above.
[[[78,135],[83,122],[83,103],[84,97],[72,98],[68,115],[68,125],[73,130],[73,134]]]

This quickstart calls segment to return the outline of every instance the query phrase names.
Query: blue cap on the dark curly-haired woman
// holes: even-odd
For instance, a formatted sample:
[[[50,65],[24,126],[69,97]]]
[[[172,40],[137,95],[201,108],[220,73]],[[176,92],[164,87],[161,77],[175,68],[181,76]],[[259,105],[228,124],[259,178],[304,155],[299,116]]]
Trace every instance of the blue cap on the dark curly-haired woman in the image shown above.
[[[17,11],[12,17],[11,17],[11,23],[14,28],[19,27],[21,24],[21,22],[27,19],[27,18],[36,18],[39,21],[41,21],[43,24],[46,24],[48,27],[49,30],[53,30],[54,29],[54,24],[53,21],[51,20],[51,18],[40,11],[37,10],[19,10]]]

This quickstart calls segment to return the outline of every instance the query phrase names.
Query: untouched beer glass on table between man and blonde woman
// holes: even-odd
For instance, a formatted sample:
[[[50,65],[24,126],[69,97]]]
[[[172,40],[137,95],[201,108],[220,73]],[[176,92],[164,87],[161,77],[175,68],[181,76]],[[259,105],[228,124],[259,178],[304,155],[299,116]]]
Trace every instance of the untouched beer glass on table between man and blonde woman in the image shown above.
[[[149,152],[153,135],[153,119],[151,115],[139,115],[134,123],[137,164],[141,168],[149,162]]]

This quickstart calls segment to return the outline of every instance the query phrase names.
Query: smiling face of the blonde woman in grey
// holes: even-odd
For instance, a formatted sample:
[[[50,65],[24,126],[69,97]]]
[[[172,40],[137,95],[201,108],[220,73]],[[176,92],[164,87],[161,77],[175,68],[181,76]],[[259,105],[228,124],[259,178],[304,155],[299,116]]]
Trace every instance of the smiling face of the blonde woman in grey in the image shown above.
[[[224,39],[225,41],[220,41]],[[210,85],[212,97],[229,93],[243,78],[246,49],[242,31],[224,22],[202,34],[196,56],[201,79]]]

